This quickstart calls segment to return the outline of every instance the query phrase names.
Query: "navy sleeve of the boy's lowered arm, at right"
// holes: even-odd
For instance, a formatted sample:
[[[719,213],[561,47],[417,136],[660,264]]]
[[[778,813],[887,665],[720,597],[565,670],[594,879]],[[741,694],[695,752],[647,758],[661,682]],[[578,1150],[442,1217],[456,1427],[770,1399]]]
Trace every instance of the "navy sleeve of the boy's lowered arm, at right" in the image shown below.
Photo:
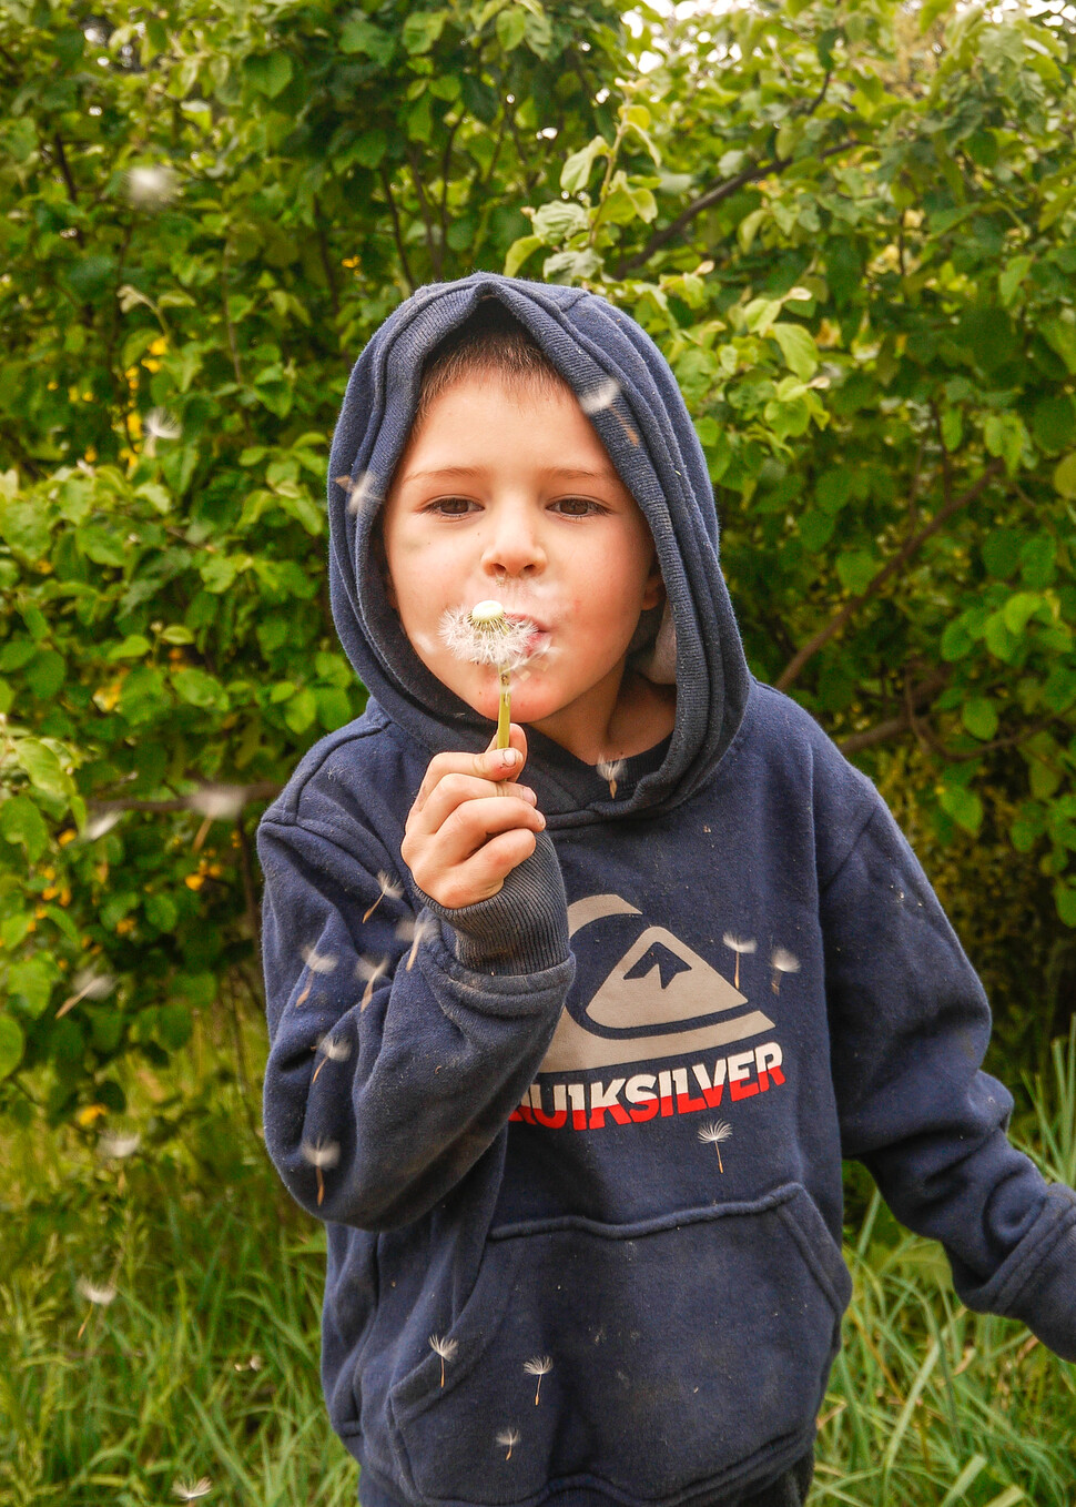
[[[821,892],[841,1150],[901,1224],[940,1240],[967,1308],[1076,1359],[1076,1194],[1008,1141],[981,1071],[990,1008],[885,802]]]

